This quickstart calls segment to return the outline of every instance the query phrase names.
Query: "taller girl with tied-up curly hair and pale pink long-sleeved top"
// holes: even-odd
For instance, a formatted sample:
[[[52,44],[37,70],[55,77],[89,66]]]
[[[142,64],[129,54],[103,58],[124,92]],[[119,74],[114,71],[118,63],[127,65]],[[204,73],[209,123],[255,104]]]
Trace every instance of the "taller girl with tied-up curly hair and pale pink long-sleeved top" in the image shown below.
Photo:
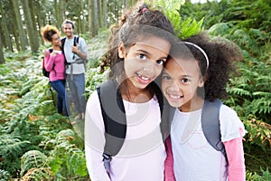
[[[110,158],[110,170],[106,170],[105,129],[115,128],[110,124],[105,128],[95,90],[88,100],[85,119],[85,149],[92,181],[164,180],[166,153],[154,80],[163,70],[172,42],[172,24],[162,12],[145,4],[126,14],[113,29],[103,65],[110,66],[109,80],[117,82],[124,103],[126,138],[117,156]]]

